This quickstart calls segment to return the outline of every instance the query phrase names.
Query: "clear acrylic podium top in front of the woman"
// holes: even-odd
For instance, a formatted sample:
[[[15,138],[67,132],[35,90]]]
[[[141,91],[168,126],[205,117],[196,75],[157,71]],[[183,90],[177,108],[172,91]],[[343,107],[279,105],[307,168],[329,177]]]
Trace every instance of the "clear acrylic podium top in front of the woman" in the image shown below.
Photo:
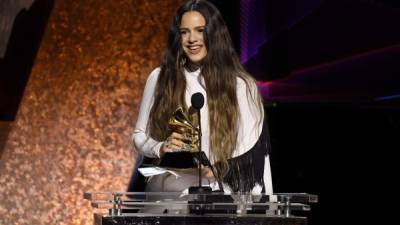
[[[305,225],[307,218],[296,212],[318,202],[306,193],[94,192],[84,198],[95,225]]]

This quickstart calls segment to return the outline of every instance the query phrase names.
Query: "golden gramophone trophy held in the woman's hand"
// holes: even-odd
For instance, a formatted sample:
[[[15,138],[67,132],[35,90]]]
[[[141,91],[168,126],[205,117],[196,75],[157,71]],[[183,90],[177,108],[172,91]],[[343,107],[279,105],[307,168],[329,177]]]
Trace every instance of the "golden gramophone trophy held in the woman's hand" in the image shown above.
[[[172,132],[176,132],[184,136],[184,144],[181,148],[181,151],[199,151],[199,129],[197,128],[198,121],[196,121],[197,118],[195,115],[196,114],[186,115],[182,107],[179,107],[177,110],[175,110],[168,121],[168,126],[171,128]]]

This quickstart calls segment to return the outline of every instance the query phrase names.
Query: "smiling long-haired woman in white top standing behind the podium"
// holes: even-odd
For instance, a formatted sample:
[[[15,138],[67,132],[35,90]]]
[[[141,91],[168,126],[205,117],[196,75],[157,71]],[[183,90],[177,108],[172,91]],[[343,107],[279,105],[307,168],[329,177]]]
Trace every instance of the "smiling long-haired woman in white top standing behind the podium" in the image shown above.
[[[226,192],[272,193],[267,133],[255,81],[241,66],[220,12],[205,0],[189,0],[176,12],[161,66],[149,76],[133,141],[147,158],[163,159],[185,147],[168,120],[187,112],[192,94],[205,96],[201,109],[202,151],[215,167],[203,184],[223,182]],[[145,191],[183,191],[198,183],[197,170],[181,177],[159,175]],[[216,187],[216,186],[214,186]]]

